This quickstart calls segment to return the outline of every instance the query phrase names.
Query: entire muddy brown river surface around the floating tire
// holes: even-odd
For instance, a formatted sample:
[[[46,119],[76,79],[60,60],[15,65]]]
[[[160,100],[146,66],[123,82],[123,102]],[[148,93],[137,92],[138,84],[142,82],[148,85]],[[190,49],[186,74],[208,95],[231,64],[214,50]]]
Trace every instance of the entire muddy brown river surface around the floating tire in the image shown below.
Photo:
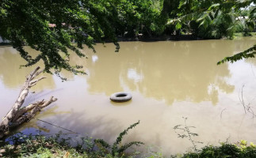
[[[121,42],[115,53],[112,43],[97,44],[97,53],[85,49],[87,59],[71,56],[88,75],[63,72],[68,81],[48,77],[32,88],[25,104],[55,96],[59,100],[46,108],[41,119],[79,134],[88,134],[113,143],[122,130],[140,120],[124,142],[143,141],[142,149],[170,155],[192,150],[187,138],[180,138],[187,126],[199,134],[194,141],[218,145],[220,141],[241,139],[256,143],[256,60],[243,60],[216,66],[220,59],[254,45],[255,37],[235,40],[162,42]],[[26,47],[31,55],[38,52]],[[0,47],[0,116],[6,115],[34,67],[21,68],[24,60],[12,47]],[[40,63],[42,65],[42,63]],[[243,92],[242,92],[243,89]],[[132,100],[113,103],[114,92],[131,92]],[[243,98],[242,94],[243,93]],[[256,119],[256,118],[255,118]],[[32,120],[19,130],[25,134],[58,133],[59,127]],[[63,130],[63,133],[68,132]],[[198,148],[202,145],[198,144]]]

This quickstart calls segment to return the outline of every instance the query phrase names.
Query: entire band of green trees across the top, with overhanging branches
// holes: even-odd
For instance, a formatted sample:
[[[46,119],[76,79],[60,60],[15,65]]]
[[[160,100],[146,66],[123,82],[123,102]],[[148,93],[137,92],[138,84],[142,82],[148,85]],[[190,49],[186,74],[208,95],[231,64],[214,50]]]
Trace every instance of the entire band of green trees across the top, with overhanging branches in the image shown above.
[[[254,30],[255,0],[2,0],[0,36],[10,40],[25,66],[44,61],[47,73],[61,70],[85,73],[71,66],[71,52],[86,57],[80,49],[94,49],[96,42],[117,37],[181,36],[201,39],[232,38],[235,32]],[[49,24],[53,24],[50,27]],[[72,44],[71,41],[76,41]],[[84,45],[85,44],[85,45]],[[32,58],[24,45],[40,54]],[[236,58],[254,57],[255,46]]]

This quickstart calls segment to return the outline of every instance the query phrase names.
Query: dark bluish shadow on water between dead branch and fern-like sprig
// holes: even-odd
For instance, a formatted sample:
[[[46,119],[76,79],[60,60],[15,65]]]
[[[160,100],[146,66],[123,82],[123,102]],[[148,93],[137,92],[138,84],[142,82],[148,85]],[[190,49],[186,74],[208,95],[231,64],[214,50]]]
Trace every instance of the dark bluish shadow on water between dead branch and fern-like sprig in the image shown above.
[[[57,108],[57,106],[48,108],[40,115],[36,115],[36,119],[41,119],[56,126],[72,130],[78,133],[78,137],[92,136],[94,138],[104,139],[109,143],[113,143],[120,132],[130,126],[121,126],[121,123],[118,120],[105,119],[105,117],[101,116],[94,117],[94,119],[86,118],[86,112],[56,112],[55,110]],[[70,132],[56,126],[49,125],[48,123],[37,121],[36,119],[32,119],[30,122],[25,123],[17,129],[17,131],[21,131],[25,134],[38,134],[38,130],[40,130],[42,134],[58,134],[60,130],[63,133]],[[134,122],[131,122],[131,125],[132,123]],[[137,136],[134,131],[136,131],[136,128],[128,132],[128,135],[124,137],[124,141],[139,141],[139,136]],[[72,135],[74,137],[76,134]]]

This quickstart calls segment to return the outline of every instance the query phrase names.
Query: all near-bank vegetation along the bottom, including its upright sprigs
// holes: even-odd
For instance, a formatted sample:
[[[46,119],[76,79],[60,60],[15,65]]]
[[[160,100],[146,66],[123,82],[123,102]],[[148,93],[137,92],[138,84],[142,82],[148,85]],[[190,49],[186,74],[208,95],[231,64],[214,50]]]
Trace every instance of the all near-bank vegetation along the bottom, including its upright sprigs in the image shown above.
[[[183,130],[185,134],[178,134],[178,137],[189,138],[189,141],[193,144],[193,152],[185,152],[183,154],[176,154],[170,156],[164,156],[162,152],[147,152],[147,155],[140,154],[136,149],[134,152],[125,152],[126,149],[132,145],[143,145],[143,142],[132,141],[121,145],[123,137],[128,134],[128,130],[136,127],[139,122],[133,123],[126,130],[121,132],[117,137],[113,145],[109,145],[102,139],[92,139],[92,137],[82,137],[76,145],[71,143],[71,137],[67,137],[67,134],[59,132],[51,137],[46,137],[42,134],[25,135],[14,134],[6,139],[6,141],[0,141],[0,156],[1,157],[27,157],[27,158],[50,158],[50,157],[63,157],[63,158],[132,158],[132,157],[147,157],[147,158],[252,158],[256,157],[256,145],[247,141],[241,140],[236,144],[229,144],[227,142],[220,143],[220,146],[207,145],[202,149],[197,149],[197,141],[193,141],[193,134],[190,128],[193,126],[187,126],[187,118],[183,118],[184,125],[174,126],[174,130]],[[72,145],[71,145],[72,144]]]

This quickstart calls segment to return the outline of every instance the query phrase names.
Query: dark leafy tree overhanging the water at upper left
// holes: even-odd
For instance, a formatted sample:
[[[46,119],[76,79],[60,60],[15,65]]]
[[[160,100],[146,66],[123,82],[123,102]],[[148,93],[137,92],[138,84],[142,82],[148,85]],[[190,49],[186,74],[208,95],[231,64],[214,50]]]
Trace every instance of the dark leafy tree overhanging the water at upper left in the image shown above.
[[[84,73],[79,66],[70,66],[68,49],[78,56],[84,57],[78,48],[85,43],[93,48],[94,40],[101,41],[108,37],[117,45],[113,25],[118,19],[118,10],[109,1],[10,1],[0,4],[0,35],[11,44],[21,57],[32,66],[40,60],[44,61],[45,70],[55,73],[65,69],[73,73]],[[54,24],[50,28],[49,24]],[[77,41],[77,47],[71,44]],[[25,51],[27,44],[41,53],[32,58]]]

